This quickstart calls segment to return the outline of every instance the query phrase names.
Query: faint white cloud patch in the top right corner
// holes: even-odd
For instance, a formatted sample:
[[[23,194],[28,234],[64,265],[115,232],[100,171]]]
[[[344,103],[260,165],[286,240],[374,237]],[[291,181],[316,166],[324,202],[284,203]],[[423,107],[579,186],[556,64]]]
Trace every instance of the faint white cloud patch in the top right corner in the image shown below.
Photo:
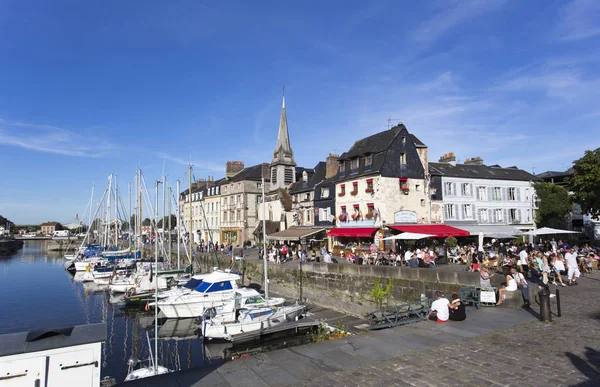
[[[600,2],[575,0],[561,10],[557,34],[560,40],[575,41],[600,35]]]

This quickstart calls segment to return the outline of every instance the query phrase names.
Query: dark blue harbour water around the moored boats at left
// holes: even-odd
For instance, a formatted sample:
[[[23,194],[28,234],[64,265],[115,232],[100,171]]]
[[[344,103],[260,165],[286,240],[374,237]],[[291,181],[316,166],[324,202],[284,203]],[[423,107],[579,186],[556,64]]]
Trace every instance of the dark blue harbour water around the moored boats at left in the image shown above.
[[[129,359],[148,358],[146,332],[153,337],[154,314],[126,309],[93,282],[78,281],[63,269],[62,254],[47,251],[45,243],[27,241],[17,253],[0,257],[0,334],[106,322],[102,377],[123,381]],[[204,345],[198,328],[195,319],[161,319],[159,364],[185,370],[230,360],[236,353],[228,343]],[[259,348],[264,351],[269,345]]]

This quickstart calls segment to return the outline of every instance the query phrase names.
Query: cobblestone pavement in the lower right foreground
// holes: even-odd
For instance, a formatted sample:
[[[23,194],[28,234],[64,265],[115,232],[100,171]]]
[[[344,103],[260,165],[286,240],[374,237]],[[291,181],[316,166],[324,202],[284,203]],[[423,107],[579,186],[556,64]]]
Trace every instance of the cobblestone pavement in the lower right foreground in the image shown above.
[[[562,317],[553,315],[551,323],[520,324],[321,375],[303,385],[600,386],[600,275],[586,275],[578,285],[559,290]],[[556,313],[555,299],[552,304]]]

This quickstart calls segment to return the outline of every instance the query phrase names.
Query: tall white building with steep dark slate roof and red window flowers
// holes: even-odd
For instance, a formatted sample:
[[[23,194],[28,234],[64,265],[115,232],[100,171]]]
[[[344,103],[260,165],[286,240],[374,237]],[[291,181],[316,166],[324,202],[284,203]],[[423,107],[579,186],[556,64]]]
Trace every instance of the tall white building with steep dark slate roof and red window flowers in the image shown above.
[[[338,160],[338,227],[426,223],[427,146],[402,124],[354,143]]]

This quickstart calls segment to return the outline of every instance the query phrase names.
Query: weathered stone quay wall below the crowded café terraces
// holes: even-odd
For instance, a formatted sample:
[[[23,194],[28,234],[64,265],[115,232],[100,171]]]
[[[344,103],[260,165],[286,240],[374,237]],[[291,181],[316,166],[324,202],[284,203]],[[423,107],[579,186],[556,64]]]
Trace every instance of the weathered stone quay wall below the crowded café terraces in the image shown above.
[[[221,267],[231,261],[223,260]],[[238,262],[234,270],[242,272],[243,284],[263,287],[264,266],[259,260]],[[479,286],[479,274],[445,272],[394,266],[303,263],[302,268],[269,265],[269,291],[286,298],[300,299],[343,313],[364,317],[380,309],[431,298],[436,290],[445,294],[461,287]],[[379,283],[382,292],[374,292]],[[385,290],[389,289],[389,294]],[[300,296],[302,292],[302,296]]]

